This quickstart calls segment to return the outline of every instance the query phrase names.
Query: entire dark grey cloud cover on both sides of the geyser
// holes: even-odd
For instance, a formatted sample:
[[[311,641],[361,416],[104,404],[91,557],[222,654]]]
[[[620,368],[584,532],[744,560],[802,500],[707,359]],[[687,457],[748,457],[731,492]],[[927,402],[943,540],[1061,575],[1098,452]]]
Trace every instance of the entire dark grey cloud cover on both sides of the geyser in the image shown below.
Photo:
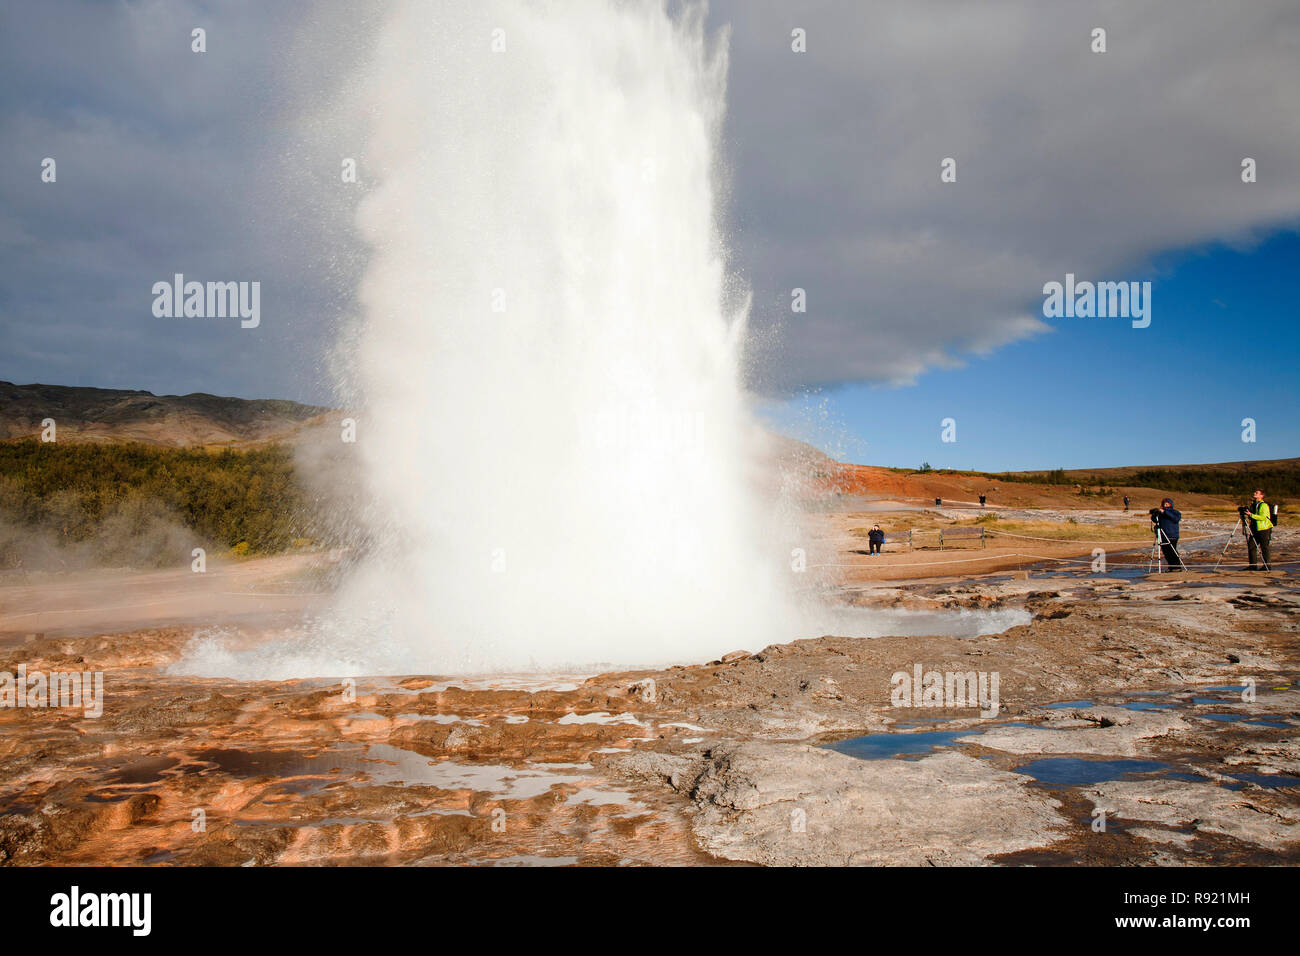
[[[328,401],[364,157],[360,190],[322,183],[358,148],[341,83],[380,8],[0,12],[0,378]],[[710,21],[732,27],[729,217],[766,392],[911,381],[1046,332],[1066,272],[1152,278],[1158,252],[1300,222],[1294,0],[714,0]],[[176,268],[260,280],[280,315],[178,338],[147,295]]]

